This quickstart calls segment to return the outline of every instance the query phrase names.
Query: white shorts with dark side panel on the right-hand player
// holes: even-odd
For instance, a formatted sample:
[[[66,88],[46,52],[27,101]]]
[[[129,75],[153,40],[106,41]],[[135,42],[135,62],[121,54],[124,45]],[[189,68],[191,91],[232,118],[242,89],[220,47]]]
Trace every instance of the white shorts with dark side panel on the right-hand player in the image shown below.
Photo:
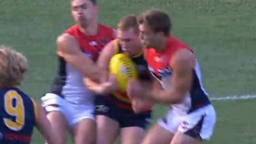
[[[212,105],[207,105],[185,115],[169,109],[166,117],[158,120],[158,124],[171,133],[180,131],[195,139],[210,140],[215,121],[215,110]]]

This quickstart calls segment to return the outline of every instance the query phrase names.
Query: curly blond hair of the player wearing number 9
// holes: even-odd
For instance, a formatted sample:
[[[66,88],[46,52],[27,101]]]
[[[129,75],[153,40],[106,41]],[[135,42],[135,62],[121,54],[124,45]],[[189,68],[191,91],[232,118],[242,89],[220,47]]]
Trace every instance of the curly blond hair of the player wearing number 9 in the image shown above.
[[[28,60],[21,53],[0,46],[0,87],[19,86],[28,70]]]

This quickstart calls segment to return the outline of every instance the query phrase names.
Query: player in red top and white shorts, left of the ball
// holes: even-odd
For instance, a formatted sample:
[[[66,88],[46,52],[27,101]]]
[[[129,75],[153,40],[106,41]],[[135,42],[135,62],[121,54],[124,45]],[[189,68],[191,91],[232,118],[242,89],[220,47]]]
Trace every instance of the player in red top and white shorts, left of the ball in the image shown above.
[[[98,23],[96,0],[71,0],[70,4],[76,24],[57,39],[58,75],[42,101],[63,144],[67,129],[74,144],[94,144],[94,96],[83,84],[83,78],[99,80],[101,71],[95,62],[115,33]]]

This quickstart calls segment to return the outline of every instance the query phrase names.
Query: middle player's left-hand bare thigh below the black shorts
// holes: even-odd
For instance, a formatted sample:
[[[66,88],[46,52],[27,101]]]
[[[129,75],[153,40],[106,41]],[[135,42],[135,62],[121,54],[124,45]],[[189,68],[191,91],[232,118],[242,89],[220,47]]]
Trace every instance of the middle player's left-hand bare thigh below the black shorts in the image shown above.
[[[97,115],[96,124],[96,144],[112,144],[119,132],[118,122],[105,115]]]

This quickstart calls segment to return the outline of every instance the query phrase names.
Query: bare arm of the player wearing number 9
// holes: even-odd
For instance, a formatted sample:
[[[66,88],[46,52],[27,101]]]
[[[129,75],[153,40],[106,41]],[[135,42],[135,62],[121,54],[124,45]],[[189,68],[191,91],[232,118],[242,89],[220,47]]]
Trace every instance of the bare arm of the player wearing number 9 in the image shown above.
[[[45,110],[41,107],[41,105],[34,102],[34,109],[35,109],[35,126],[38,131],[43,135],[47,144],[60,144],[60,141],[53,132],[51,123],[46,117]]]

